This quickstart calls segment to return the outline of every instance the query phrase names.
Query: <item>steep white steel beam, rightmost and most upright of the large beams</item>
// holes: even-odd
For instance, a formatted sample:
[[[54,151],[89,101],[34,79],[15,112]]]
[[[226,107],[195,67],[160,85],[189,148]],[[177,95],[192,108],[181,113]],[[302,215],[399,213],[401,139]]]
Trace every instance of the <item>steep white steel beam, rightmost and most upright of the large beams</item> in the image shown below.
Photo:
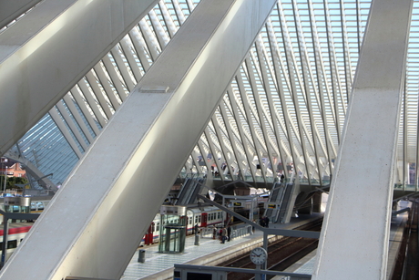
[[[373,1],[314,280],[385,279],[412,3]]]

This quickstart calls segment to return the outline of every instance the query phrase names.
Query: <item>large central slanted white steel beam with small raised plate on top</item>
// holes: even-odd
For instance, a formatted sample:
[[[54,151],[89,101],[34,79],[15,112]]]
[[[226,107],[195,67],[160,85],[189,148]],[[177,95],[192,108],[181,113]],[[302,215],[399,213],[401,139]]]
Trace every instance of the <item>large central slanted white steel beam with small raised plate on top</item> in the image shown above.
[[[275,2],[198,5],[36,222],[2,279],[122,275]],[[169,93],[144,90],[161,86]],[[164,173],[155,168],[161,164]],[[46,233],[56,238],[46,240]]]

